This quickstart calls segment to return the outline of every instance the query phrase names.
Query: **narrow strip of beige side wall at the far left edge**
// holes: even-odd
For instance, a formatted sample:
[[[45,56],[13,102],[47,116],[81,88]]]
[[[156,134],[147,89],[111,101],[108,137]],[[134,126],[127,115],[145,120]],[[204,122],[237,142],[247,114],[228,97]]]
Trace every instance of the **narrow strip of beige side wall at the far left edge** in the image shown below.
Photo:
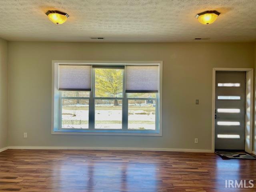
[[[7,41],[0,38],[0,150],[7,147]]]

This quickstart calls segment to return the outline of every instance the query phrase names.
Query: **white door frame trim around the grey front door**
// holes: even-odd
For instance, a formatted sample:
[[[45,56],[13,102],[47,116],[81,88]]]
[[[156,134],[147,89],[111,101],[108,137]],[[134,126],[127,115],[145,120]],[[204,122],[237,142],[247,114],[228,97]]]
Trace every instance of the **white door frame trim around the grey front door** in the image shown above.
[[[215,76],[216,71],[246,72],[246,102],[245,102],[245,151],[252,153],[253,129],[253,68],[213,68],[212,69],[212,152],[215,150]]]

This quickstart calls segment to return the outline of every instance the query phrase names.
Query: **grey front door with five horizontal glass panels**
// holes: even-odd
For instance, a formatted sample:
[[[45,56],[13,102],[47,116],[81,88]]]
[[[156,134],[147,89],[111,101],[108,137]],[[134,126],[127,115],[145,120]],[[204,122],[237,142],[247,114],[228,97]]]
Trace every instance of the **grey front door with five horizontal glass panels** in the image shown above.
[[[216,72],[215,149],[244,150],[245,72]]]

